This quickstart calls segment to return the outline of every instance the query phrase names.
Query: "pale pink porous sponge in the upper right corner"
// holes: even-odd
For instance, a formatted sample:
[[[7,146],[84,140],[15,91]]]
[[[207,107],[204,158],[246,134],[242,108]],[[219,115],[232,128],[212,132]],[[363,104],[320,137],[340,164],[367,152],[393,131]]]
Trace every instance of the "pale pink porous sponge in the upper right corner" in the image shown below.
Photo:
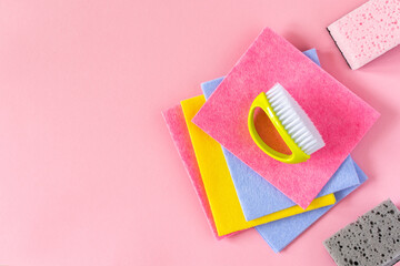
[[[400,44],[400,0],[370,0],[328,27],[356,70]]]

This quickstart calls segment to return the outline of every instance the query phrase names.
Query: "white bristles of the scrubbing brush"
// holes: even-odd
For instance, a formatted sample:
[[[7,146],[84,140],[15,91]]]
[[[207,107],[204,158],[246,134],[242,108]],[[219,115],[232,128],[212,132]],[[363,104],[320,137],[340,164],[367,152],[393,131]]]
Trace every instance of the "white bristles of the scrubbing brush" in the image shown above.
[[[324,146],[312,121],[281,84],[274,84],[266,95],[284,130],[301,151],[311,155]]]

